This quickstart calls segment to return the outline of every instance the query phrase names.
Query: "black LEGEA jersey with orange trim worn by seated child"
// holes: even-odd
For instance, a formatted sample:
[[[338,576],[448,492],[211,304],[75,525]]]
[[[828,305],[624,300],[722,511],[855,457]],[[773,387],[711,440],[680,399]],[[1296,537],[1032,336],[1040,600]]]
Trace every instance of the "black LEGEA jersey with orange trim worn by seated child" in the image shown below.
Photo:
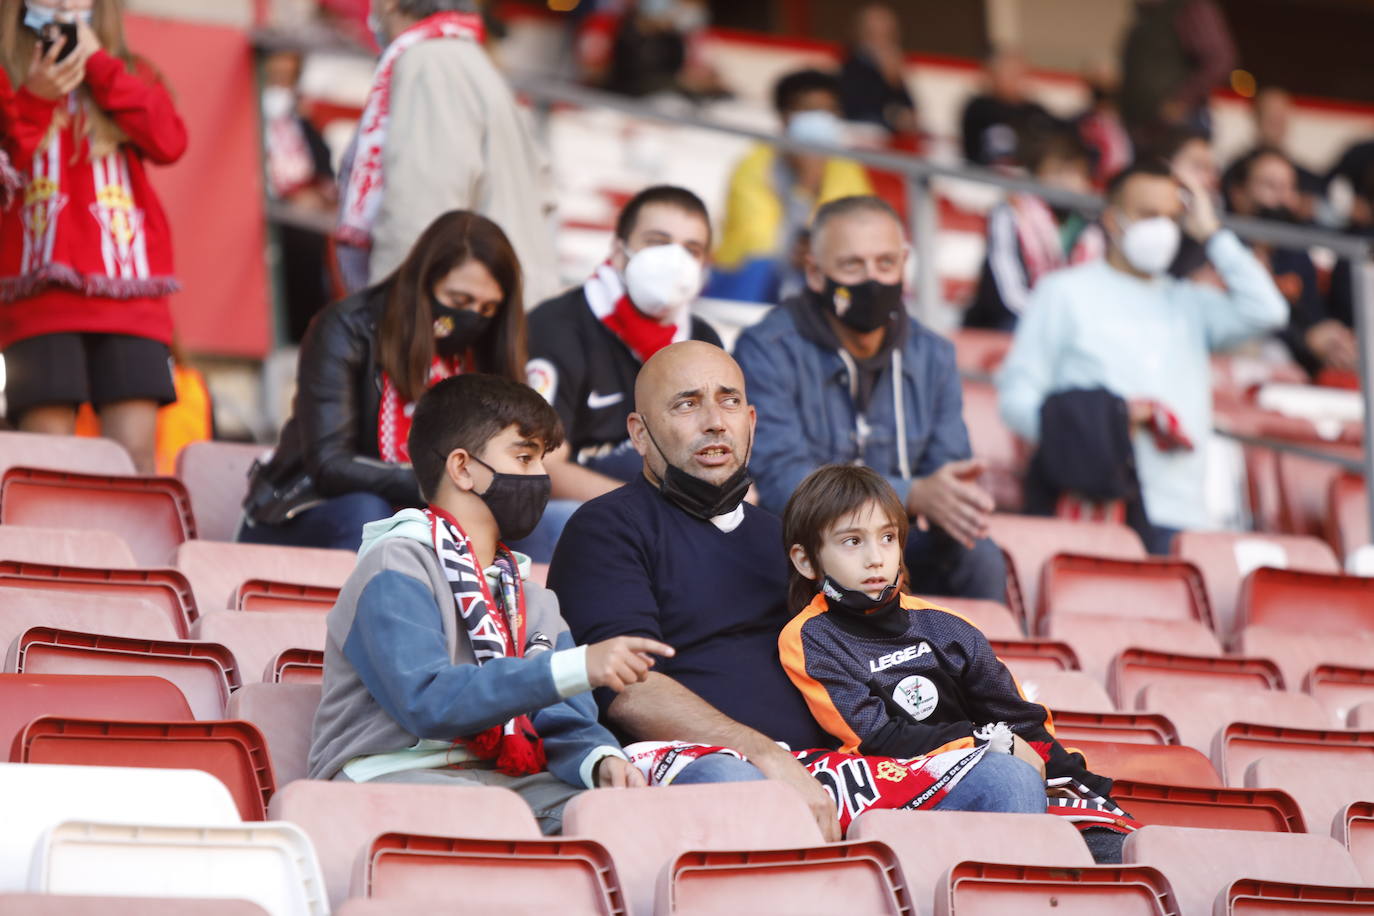
[[[877,614],[831,608],[823,595],[794,617],[778,648],[820,726],[851,754],[919,757],[976,743],[1006,722],[1046,759],[1046,777],[1072,776],[1107,795],[1112,780],[1054,737],[1050,711],[1017,685],[982,632],[910,595]]]

